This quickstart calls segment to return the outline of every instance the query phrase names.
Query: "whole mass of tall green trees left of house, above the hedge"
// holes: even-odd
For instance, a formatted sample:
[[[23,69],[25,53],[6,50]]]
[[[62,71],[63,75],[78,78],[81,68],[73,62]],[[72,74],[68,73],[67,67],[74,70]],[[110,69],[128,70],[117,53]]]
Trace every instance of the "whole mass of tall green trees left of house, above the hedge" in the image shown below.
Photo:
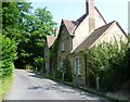
[[[53,35],[56,23],[44,7],[31,13],[30,2],[2,2],[2,35],[15,47],[15,66],[43,67],[43,49],[47,35]],[[4,43],[4,42],[3,42]],[[3,44],[2,50],[6,50]],[[11,54],[5,51],[2,54]],[[3,55],[4,56],[4,55]]]

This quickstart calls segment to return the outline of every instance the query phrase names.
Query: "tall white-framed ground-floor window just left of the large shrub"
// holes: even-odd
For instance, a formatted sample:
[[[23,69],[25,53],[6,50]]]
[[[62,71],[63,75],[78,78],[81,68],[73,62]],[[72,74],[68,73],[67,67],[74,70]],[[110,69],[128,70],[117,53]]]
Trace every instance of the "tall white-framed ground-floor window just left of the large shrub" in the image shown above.
[[[81,75],[81,58],[80,56],[75,58],[75,74]]]

